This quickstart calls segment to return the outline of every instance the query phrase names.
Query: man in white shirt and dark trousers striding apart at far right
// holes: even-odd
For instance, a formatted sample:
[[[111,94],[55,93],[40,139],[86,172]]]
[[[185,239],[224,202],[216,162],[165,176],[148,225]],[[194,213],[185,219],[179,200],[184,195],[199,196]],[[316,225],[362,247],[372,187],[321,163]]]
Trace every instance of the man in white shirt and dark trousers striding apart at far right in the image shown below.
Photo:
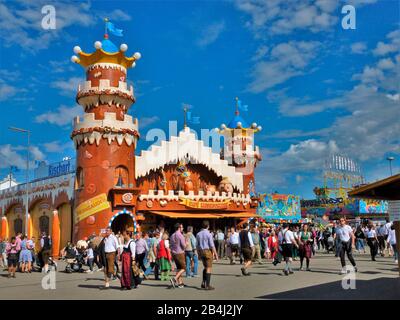
[[[340,262],[342,264],[342,274],[347,273],[346,271],[346,260],[345,260],[345,253],[347,253],[347,258],[349,259],[350,263],[354,267],[354,271],[357,272],[356,262],[354,261],[353,254],[352,254],[352,247],[354,246],[355,236],[353,233],[353,229],[346,224],[345,218],[340,218],[339,226],[336,227],[335,237],[340,241]]]

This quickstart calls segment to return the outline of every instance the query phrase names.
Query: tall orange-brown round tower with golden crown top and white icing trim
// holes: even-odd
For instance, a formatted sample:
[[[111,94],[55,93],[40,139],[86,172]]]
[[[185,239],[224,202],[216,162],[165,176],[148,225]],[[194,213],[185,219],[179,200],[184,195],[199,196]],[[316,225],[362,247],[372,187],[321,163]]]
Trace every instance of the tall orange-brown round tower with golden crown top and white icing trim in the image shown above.
[[[135,147],[139,138],[137,119],[127,114],[135,103],[127,70],[140,59],[128,57],[126,44],[119,49],[104,36],[85,53],[75,46],[71,61],[85,68],[86,81],[79,85],[76,101],[84,110],[74,119],[71,139],[76,147],[74,240],[111,226],[118,212],[134,218]]]

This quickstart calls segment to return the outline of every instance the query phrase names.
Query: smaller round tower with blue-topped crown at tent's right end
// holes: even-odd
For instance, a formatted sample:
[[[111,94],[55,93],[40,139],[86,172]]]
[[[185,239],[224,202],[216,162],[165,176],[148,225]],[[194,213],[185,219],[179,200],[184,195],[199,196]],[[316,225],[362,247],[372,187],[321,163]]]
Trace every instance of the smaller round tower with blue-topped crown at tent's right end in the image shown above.
[[[246,193],[255,196],[254,168],[261,155],[258,146],[254,145],[254,134],[261,131],[257,123],[249,125],[239,113],[239,99],[236,97],[236,110],[233,119],[221,124],[215,130],[224,136],[224,148],[221,158],[236,167],[237,172],[243,174],[243,187]]]

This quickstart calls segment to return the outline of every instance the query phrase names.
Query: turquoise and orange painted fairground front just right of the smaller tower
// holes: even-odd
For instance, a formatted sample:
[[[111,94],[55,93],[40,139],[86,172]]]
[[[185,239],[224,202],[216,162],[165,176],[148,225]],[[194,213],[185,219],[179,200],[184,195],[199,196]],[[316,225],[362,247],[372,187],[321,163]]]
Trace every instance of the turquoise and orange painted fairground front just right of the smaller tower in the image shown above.
[[[257,214],[266,221],[301,219],[300,198],[288,194],[260,194]]]

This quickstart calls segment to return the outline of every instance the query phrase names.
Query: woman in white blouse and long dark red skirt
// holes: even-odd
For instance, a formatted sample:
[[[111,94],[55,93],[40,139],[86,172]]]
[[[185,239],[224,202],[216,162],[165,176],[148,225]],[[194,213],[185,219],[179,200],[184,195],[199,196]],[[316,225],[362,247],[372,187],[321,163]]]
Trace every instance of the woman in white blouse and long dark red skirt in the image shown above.
[[[123,234],[124,244],[122,246],[121,254],[121,289],[131,290],[132,287],[137,287],[136,277],[133,274],[133,266],[135,265],[136,244],[135,240],[131,238],[131,231],[124,231]]]

